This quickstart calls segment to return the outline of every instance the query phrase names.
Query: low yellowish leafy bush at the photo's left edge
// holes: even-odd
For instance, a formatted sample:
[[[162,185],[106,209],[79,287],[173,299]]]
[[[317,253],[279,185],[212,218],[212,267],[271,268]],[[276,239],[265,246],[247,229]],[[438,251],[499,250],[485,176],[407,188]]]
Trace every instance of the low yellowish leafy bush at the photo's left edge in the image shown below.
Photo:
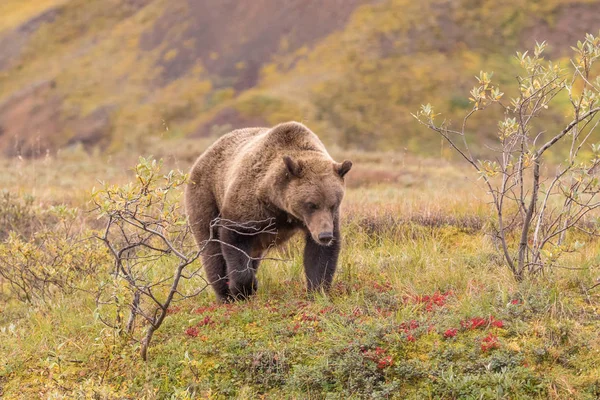
[[[0,285],[11,297],[32,302],[57,291],[70,293],[106,263],[106,251],[92,240],[80,214],[62,205],[37,207],[30,196],[3,194]]]

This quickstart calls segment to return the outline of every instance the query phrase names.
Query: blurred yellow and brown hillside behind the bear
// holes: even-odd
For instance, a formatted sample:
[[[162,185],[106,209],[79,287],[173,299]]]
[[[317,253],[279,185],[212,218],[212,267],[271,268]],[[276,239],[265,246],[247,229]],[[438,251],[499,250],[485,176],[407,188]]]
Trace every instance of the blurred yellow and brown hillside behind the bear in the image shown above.
[[[291,119],[342,149],[439,154],[410,116],[421,103],[458,119],[481,69],[510,95],[515,50],[546,40],[566,62],[598,29],[600,1],[583,0],[3,0],[0,154]]]

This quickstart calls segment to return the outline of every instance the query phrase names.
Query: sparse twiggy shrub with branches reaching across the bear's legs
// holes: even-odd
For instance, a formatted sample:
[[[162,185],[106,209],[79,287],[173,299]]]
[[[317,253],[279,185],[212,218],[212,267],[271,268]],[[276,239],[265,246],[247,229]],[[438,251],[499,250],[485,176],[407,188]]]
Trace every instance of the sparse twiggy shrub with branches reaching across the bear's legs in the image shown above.
[[[196,260],[206,244],[218,239],[210,238],[199,249],[192,240],[181,210],[186,174],[165,174],[162,161],[145,158],[140,158],[135,174],[135,182],[123,186],[103,184],[93,193],[94,211],[105,222],[98,238],[114,261],[111,278],[100,285],[97,304],[99,310],[110,306],[108,315],[100,312],[99,318],[120,335],[132,337],[138,317],[146,322],[140,340],[141,357],[146,360],[152,336],[164,322],[169,307],[208,287]],[[264,229],[271,228],[266,226]],[[217,218],[211,228],[216,232],[217,228],[249,226]],[[258,235],[264,229],[249,234]],[[185,289],[183,280],[190,281]]]

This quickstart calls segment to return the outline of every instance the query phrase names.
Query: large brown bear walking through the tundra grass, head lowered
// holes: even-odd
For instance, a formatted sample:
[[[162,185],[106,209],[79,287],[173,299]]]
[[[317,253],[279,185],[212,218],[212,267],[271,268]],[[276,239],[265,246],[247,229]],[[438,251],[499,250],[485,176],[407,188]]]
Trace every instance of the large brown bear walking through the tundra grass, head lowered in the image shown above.
[[[239,129],[196,161],[185,206],[206,276],[221,302],[253,294],[265,252],[305,235],[309,291],[331,286],[340,252],[339,207],[352,162],[335,162],[298,122]]]

